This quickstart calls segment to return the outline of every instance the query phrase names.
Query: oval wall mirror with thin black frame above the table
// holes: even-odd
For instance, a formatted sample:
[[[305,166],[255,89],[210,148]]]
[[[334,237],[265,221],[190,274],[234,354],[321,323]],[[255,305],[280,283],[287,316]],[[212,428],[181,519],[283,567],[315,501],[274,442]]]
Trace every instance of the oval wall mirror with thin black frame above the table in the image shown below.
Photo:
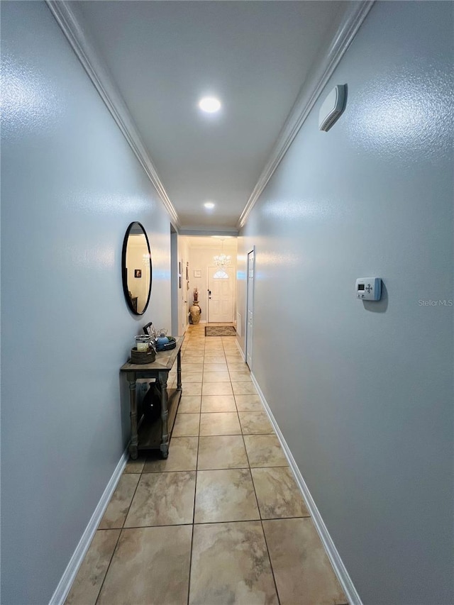
[[[126,230],[121,254],[123,292],[129,309],[143,315],[150,301],[153,267],[150,243],[140,223],[131,223]]]

